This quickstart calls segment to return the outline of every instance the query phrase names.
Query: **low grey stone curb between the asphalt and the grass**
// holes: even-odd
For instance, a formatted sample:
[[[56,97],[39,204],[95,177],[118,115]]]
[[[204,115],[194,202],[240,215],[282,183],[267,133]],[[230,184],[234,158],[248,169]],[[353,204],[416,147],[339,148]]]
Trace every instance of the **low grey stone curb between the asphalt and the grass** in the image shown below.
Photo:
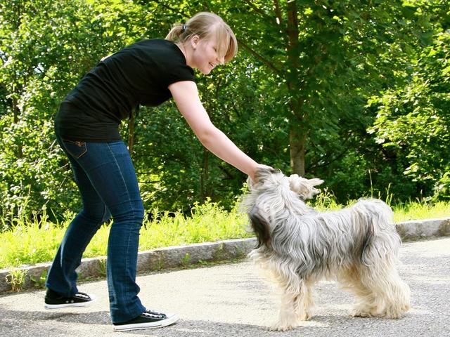
[[[397,232],[404,241],[432,239],[450,236],[450,218],[412,220],[397,223]],[[188,267],[208,262],[219,262],[244,258],[255,247],[256,239],[232,239],[219,242],[205,242],[187,246],[170,246],[139,252],[138,272],[153,272],[174,267]],[[105,277],[105,256],[84,258],[77,272],[80,279]],[[0,270],[0,293],[11,291],[11,273],[23,275],[20,289],[32,289],[42,284],[51,263],[23,266],[14,270]]]

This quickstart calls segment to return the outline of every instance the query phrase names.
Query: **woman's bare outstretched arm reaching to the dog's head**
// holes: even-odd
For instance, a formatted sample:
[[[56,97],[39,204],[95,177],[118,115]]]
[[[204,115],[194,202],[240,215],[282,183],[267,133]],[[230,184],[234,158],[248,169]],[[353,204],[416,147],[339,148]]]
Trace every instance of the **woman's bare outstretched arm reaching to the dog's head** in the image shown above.
[[[236,169],[255,178],[257,169],[268,167],[258,164],[238,149],[234,143],[216,128],[208,116],[198,97],[198,90],[193,81],[179,81],[171,84],[169,90],[176,106],[184,116],[189,126],[208,150],[220,159],[236,167]]]

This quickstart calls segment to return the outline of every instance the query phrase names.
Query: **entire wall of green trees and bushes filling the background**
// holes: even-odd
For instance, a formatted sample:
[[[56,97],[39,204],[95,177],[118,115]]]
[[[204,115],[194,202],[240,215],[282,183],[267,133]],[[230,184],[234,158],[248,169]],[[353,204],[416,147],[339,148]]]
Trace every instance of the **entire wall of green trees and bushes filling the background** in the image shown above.
[[[198,87],[252,158],[285,173],[304,161],[344,204],[449,198],[449,1],[0,0],[1,230],[79,209],[53,135],[58,104],[103,56],[198,11],[238,37],[238,57]],[[146,209],[190,213],[208,198],[233,209],[246,177],[173,103],[141,108],[122,134]]]

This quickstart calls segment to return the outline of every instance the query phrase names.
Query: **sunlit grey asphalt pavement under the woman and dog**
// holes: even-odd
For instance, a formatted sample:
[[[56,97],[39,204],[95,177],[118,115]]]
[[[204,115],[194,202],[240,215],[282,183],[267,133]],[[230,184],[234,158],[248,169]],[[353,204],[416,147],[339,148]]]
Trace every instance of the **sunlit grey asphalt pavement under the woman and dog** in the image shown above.
[[[140,298],[154,310],[177,312],[162,329],[114,332],[104,280],[79,284],[94,293],[90,308],[44,310],[44,291],[0,296],[0,336],[450,336],[450,238],[405,243],[399,272],[411,287],[411,310],[402,319],[350,317],[352,295],[333,282],[316,286],[316,313],[287,332],[267,331],[276,319],[276,297],[247,261],[139,275]]]

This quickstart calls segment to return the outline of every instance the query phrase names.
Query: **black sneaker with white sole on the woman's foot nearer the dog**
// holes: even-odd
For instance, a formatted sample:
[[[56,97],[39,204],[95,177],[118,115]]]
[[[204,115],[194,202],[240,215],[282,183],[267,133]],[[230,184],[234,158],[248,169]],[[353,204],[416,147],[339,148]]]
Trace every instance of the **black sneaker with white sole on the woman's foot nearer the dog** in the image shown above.
[[[144,311],[141,315],[131,321],[114,323],[115,331],[129,331],[139,329],[162,328],[174,324],[178,320],[176,314],[162,314],[151,310]]]

